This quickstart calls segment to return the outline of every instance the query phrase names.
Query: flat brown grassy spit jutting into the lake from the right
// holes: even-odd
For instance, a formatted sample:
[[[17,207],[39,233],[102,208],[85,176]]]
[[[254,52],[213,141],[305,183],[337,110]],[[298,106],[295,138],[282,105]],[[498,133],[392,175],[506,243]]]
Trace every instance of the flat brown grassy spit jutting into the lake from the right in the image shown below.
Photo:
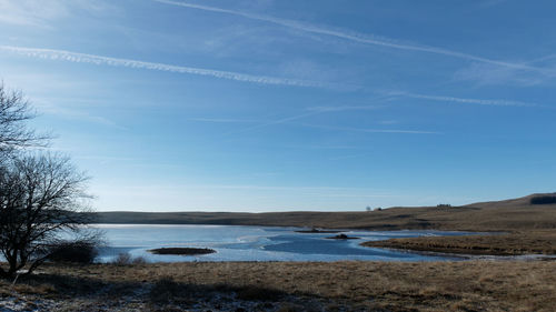
[[[522,231],[499,235],[390,239],[365,242],[363,245],[465,254],[556,254],[556,231]]]

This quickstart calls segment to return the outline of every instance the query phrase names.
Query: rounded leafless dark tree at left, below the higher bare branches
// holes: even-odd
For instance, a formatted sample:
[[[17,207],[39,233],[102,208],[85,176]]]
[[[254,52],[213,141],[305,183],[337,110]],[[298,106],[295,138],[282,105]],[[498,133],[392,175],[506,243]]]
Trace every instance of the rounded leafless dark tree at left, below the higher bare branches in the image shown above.
[[[24,154],[0,167],[0,252],[8,268],[0,275],[31,273],[48,259],[52,246],[91,239],[87,177],[68,158]]]

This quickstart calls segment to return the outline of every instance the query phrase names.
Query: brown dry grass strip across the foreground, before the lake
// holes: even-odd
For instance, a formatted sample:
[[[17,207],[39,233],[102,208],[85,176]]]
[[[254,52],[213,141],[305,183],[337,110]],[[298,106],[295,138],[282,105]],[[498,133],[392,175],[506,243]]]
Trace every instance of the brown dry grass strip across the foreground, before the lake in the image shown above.
[[[49,264],[0,295],[56,311],[554,311],[556,262]]]

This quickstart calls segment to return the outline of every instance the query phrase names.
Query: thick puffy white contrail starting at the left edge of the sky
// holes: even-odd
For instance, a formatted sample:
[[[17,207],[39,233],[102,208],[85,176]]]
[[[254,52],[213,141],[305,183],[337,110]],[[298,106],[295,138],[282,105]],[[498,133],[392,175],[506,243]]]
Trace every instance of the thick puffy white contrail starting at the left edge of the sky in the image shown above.
[[[62,60],[76,63],[91,63],[96,66],[125,67],[135,69],[147,69],[157,71],[208,76],[219,79],[252,82],[260,84],[335,88],[334,83],[324,83],[324,82],[306,81],[306,80],[297,80],[288,78],[276,78],[268,76],[255,76],[255,74],[239,73],[232,71],[171,66],[165,63],[143,62],[129,59],[118,59],[118,58],[109,58],[95,54],[78,53],[66,50],[22,48],[22,47],[11,47],[11,46],[0,46],[0,50],[38,59]]]

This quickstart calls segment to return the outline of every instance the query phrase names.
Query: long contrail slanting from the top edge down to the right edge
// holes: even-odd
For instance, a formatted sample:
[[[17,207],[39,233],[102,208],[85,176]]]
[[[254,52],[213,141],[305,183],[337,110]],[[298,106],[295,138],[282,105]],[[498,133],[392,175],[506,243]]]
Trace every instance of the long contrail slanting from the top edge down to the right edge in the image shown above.
[[[201,4],[188,3],[188,2],[181,2],[181,1],[172,1],[172,0],[152,0],[152,1],[156,1],[159,3],[171,4],[171,6],[190,8],[190,9],[198,9],[198,10],[203,10],[203,11],[244,17],[244,18],[251,19],[251,20],[270,22],[270,23],[279,24],[282,27],[287,27],[287,28],[301,30],[305,32],[331,36],[331,37],[341,38],[345,40],[350,40],[350,41],[359,42],[359,43],[381,46],[381,47],[399,49],[399,50],[409,50],[409,51],[419,51],[419,52],[443,54],[443,56],[447,56],[447,57],[454,57],[454,58],[458,58],[458,59],[471,60],[471,61],[489,63],[489,64],[496,64],[496,66],[512,68],[512,69],[537,71],[537,72],[540,72],[540,73],[544,73],[547,76],[556,74],[555,71],[550,71],[550,70],[546,70],[546,69],[537,68],[537,67],[532,67],[532,66],[527,66],[524,63],[512,63],[512,62],[505,62],[505,61],[499,61],[499,60],[493,60],[493,59],[487,59],[487,58],[477,57],[474,54],[468,54],[468,53],[464,53],[464,52],[458,52],[458,51],[453,51],[453,50],[447,50],[447,49],[436,48],[436,47],[397,43],[397,42],[388,41],[388,40],[385,40],[381,38],[378,39],[375,36],[369,36],[369,34],[358,33],[358,32],[353,32],[353,31],[345,31],[345,30],[335,30],[335,29],[318,27],[318,26],[314,26],[314,24],[301,23],[301,22],[295,21],[295,20],[279,19],[279,18],[275,18],[275,17],[270,17],[270,16],[248,13],[248,12],[244,12],[244,11],[221,9],[221,8],[216,8],[216,7],[201,6]]]

